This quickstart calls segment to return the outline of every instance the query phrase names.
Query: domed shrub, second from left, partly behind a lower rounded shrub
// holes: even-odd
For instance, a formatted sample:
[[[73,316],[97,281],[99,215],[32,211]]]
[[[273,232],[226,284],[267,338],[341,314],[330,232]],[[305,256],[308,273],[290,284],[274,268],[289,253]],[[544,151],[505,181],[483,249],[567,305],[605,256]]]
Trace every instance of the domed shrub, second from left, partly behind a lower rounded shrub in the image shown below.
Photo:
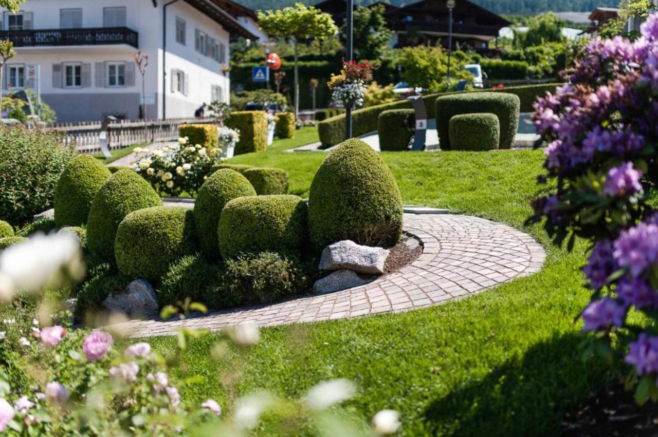
[[[89,250],[104,260],[113,260],[119,223],[133,211],[162,204],[160,196],[137,173],[130,170],[114,173],[91,202],[87,222]]]

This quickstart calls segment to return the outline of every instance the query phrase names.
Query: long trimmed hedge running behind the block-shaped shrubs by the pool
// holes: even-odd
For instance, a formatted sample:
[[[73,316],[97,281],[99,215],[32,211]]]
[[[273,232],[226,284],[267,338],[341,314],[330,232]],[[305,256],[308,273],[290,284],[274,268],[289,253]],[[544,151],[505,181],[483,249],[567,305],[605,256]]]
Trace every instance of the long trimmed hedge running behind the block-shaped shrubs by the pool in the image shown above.
[[[542,83],[540,85],[523,85],[519,87],[488,89],[484,91],[453,91],[449,93],[428,94],[422,97],[422,101],[425,104],[428,120],[435,118],[434,109],[437,97],[468,93],[490,92],[514,94],[519,96],[521,112],[534,112],[532,104],[536,101],[537,97],[544,97],[547,91],[555,93],[555,88],[559,85],[561,85],[561,83]],[[368,132],[376,131],[379,122],[379,114],[385,110],[408,108],[411,108],[411,101],[402,100],[357,109],[352,112],[352,135],[354,137],[359,137]],[[345,141],[345,115],[340,114],[318,123],[318,135],[320,136],[320,142],[322,142],[322,147],[324,148],[332,147]]]

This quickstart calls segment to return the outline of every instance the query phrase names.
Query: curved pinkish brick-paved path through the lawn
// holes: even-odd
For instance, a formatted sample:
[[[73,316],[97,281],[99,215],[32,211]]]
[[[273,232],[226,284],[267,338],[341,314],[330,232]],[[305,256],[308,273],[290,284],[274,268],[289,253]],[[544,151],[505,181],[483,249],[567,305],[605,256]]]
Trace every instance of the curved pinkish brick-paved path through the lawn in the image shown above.
[[[530,275],[545,259],[544,248],[532,237],[486,219],[405,214],[404,230],[422,242],[420,258],[368,285],[184,321],[130,321],[112,328],[140,338],[171,334],[182,326],[215,331],[241,323],[272,326],[413,310]]]

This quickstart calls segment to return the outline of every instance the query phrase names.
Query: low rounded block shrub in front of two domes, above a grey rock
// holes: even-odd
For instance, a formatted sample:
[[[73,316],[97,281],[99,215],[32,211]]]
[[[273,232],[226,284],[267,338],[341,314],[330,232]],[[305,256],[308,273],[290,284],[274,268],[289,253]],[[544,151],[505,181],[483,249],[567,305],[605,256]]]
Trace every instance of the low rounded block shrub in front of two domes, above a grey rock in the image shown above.
[[[159,282],[172,262],[195,252],[194,239],[188,208],[153,206],[131,212],[116,231],[116,265],[129,278]]]

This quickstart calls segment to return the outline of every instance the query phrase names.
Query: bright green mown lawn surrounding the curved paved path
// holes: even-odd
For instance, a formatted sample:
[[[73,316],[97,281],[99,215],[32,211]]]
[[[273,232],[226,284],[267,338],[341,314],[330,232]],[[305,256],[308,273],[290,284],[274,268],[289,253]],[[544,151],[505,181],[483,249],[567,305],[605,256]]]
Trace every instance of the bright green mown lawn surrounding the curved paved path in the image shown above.
[[[248,154],[231,162],[276,166],[290,172],[291,192],[307,196],[324,152]],[[448,207],[522,229],[530,200],[540,194],[541,150],[500,152],[387,152],[407,204]],[[401,412],[407,436],[556,435],[574,410],[616,369],[583,361],[580,322],[588,301],[580,265],[584,244],[572,254],[554,248],[540,227],[526,229],[547,248],[544,269],[478,296],[408,313],[375,315],[263,329],[261,342],[215,361],[219,334],[191,342],[179,378],[205,382],[183,396],[212,396],[227,413],[230,399],[256,388],[301,398],[320,380],[347,378],[359,386],[344,404],[347,415],[369,421],[382,408]],[[158,350],[174,338],[149,340]],[[232,379],[220,373],[232,364]],[[259,434],[271,435],[267,425]]]

